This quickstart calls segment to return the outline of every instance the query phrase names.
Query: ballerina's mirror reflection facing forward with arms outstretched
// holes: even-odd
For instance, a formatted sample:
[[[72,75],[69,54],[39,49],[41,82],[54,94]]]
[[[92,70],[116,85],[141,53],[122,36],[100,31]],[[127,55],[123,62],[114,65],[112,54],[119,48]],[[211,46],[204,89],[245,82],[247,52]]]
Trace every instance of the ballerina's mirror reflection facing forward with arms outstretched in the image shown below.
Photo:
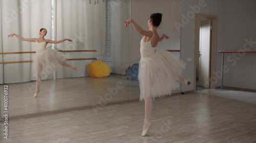
[[[66,40],[71,41],[70,39],[62,39],[60,41],[52,41],[49,39],[45,39],[44,37],[47,34],[47,30],[45,28],[41,28],[40,37],[38,39],[36,38],[23,38],[21,36],[18,36],[17,34],[11,34],[8,35],[8,37],[16,36],[18,39],[28,42],[35,42],[35,51],[36,54],[33,59],[33,76],[36,77],[36,91],[34,97],[37,96],[37,94],[40,92],[39,85],[41,82],[41,76],[46,76],[54,72],[58,67],[66,66],[70,67],[74,70],[79,70],[79,68],[73,67],[69,64],[67,64],[65,61],[66,59],[61,55],[60,52],[57,52],[56,50],[53,50],[51,48],[46,48],[46,45],[48,43],[61,43]]]

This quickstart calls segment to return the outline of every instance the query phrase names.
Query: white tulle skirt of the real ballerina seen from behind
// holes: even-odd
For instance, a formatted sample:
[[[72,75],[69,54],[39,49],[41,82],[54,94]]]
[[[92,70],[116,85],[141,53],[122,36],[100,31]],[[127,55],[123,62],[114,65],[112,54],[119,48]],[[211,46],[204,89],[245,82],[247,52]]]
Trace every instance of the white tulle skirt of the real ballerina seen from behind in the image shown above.
[[[170,95],[180,82],[185,63],[174,54],[155,49],[155,53],[141,58],[139,63],[140,101]]]

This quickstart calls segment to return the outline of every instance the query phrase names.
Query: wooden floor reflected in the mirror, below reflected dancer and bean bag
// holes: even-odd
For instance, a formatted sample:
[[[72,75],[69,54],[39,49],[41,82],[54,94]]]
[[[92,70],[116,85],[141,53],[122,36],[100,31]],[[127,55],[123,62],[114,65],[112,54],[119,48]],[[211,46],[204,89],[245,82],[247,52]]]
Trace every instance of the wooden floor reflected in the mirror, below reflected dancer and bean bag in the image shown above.
[[[139,81],[127,80],[125,76],[111,74],[106,78],[64,78],[43,80],[40,92],[34,98],[35,81],[8,85],[9,116],[16,119],[41,113],[91,108],[95,104],[111,104],[138,99]],[[0,85],[4,95],[4,85]],[[178,90],[174,93],[178,93]],[[1,100],[4,105],[4,100]],[[2,107],[2,112],[4,108]],[[2,115],[3,118],[3,115]]]

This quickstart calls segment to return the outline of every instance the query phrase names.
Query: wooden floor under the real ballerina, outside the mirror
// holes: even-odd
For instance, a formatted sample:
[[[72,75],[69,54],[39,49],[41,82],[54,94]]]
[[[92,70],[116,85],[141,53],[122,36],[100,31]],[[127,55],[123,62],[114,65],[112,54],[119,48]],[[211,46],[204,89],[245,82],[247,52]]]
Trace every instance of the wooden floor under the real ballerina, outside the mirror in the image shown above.
[[[156,99],[146,137],[141,136],[144,102],[117,102],[20,116],[8,121],[8,139],[1,122],[0,142],[256,142],[256,93],[201,90]]]

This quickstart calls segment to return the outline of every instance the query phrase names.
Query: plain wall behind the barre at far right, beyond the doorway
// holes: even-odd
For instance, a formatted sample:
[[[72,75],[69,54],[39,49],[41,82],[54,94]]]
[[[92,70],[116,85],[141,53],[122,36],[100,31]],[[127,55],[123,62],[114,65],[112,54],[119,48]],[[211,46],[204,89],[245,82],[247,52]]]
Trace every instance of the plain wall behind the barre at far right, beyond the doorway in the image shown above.
[[[227,0],[222,50],[256,50],[256,1]],[[245,39],[254,42],[251,46]],[[244,44],[245,48],[244,48]],[[224,86],[256,90],[256,54],[225,53]]]

